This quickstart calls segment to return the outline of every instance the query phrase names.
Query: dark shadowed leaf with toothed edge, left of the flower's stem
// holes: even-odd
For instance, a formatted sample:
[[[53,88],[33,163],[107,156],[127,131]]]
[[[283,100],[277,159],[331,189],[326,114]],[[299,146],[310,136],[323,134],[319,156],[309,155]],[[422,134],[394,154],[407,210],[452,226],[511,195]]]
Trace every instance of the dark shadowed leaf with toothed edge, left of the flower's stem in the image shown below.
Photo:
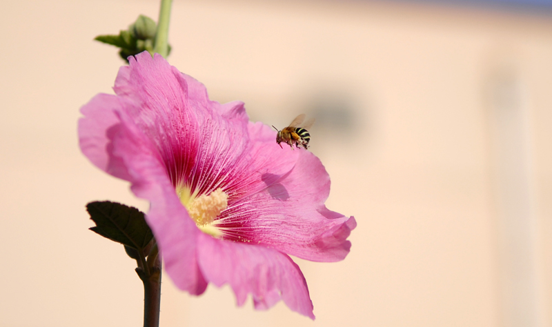
[[[90,228],[103,237],[144,252],[153,233],[146,224],[144,212],[110,201],[95,201],[86,205],[96,226]],[[146,253],[147,255],[147,253]]]

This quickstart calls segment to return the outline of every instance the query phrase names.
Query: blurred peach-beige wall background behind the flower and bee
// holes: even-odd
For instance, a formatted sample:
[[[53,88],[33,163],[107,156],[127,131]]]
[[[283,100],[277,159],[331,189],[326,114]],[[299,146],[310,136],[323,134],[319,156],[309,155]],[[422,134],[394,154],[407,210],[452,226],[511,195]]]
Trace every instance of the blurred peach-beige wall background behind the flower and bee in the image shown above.
[[[81,155],[77,119],[124,64],[92,39],[159,1],[0,9],[0,326],[141,326],[135,261],[84,206],[148,204]],[[165,275],[161,326],[552,326],[548,1],[175,0],[170,25],[211,99],[317,119],[326,204],[358,226],[344,261],[297,259],[315,321]]]

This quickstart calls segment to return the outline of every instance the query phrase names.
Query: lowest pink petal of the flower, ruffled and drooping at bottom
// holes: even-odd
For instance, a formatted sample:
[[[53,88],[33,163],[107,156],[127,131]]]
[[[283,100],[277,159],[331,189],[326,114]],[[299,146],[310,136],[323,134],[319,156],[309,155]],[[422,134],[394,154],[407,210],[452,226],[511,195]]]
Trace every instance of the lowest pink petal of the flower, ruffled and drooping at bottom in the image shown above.
[[[199,266],[216,286],[226,283],[241,306],[251,294],[255,308],[283,299],[291,309],[315,319],[305,278],[293,260],[277,250],[199,235]]]

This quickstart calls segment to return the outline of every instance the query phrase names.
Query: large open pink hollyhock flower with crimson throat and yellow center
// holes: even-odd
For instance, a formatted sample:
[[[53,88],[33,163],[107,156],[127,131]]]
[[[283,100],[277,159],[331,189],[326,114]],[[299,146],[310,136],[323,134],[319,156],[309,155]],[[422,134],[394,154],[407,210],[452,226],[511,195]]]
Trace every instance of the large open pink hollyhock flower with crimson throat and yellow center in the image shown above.
[[[280,148],[244,103],[210,101],[158,54],[130,57],[114,90],[81,109],[81,150],[150,201],[146,221],[177,287],[200,295],[208,282],[230,284],[238,305],[249,294],[259,309],[283,299],[314,319],[288,255],[342,260],[356,226],[324,206],[330,179],[319,159]]]

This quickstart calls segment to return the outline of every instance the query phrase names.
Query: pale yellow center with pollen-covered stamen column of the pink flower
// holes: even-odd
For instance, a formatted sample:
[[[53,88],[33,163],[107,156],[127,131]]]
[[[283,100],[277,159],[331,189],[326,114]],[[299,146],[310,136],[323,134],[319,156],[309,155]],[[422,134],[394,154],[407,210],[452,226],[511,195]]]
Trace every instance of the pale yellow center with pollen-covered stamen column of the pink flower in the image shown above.
[[[209,195],[199,195],[199,197],[190,194],[190,190],[186,187],[177,190],[177,193],[181,203],[188,210],[188,215],[194,219],[201,231],[215,237],[221,235],[220,230],[213,224],[218,215],[228,208],[228,195],[221,188],[210,192]]]

